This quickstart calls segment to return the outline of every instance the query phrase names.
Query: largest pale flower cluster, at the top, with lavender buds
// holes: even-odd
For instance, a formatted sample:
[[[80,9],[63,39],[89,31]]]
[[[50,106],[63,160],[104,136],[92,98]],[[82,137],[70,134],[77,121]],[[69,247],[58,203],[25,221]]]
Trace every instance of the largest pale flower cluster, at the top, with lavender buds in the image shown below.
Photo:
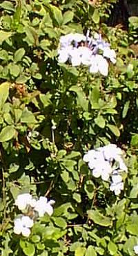
[[[116,63],[116,53],[110,49],[110,44],[103,41],[101,35],[95,37],[75,33],[61,36],[58,61],[66,63],[69,61],[72,66],[81,64],[89,66],[90,73],[101,73],[108,75],[108,60]]]

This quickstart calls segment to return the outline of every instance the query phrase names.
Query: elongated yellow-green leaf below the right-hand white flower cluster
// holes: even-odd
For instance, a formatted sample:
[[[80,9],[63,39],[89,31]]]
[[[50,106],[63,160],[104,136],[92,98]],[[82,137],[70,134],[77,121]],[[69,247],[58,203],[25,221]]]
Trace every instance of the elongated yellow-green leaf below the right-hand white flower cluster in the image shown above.
[[[108,227],[112,225],[110,218],[103,216],[98,210],[88,210],[88,217],[99,226]]]

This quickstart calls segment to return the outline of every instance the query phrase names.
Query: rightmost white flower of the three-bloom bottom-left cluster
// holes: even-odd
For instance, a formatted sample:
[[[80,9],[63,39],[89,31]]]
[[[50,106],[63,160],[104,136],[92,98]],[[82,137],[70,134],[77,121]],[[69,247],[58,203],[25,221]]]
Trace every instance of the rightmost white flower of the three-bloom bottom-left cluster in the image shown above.
[[[53,208],[52,204],[55,203],[54,200],[48,201],[48,199],[45,196],[40,196],[39,200],[37,201],[34,210],[38,212],[39,217],[43,217],[45,213],[48,213],[48,215],[52,215]]]

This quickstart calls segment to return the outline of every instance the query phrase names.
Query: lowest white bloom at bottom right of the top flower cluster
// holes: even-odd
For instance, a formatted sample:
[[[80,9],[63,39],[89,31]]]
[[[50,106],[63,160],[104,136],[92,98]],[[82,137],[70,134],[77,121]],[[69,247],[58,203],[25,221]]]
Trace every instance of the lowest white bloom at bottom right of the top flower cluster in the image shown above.
[[[100,72],[101,75],[108,75],[108,62],[107,60],[99,54],[92,55],[90,60],[90,73]]]

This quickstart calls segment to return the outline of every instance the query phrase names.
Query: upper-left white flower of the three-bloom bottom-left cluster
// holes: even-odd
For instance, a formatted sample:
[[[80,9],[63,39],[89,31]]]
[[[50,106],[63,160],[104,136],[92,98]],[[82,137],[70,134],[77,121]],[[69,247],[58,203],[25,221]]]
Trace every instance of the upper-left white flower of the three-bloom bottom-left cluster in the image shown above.
[[[25,210],[27,205],[30,205],[32,201],[32,195],[29,193],[19,194],[15,200],[15,205],[19,210]]]

